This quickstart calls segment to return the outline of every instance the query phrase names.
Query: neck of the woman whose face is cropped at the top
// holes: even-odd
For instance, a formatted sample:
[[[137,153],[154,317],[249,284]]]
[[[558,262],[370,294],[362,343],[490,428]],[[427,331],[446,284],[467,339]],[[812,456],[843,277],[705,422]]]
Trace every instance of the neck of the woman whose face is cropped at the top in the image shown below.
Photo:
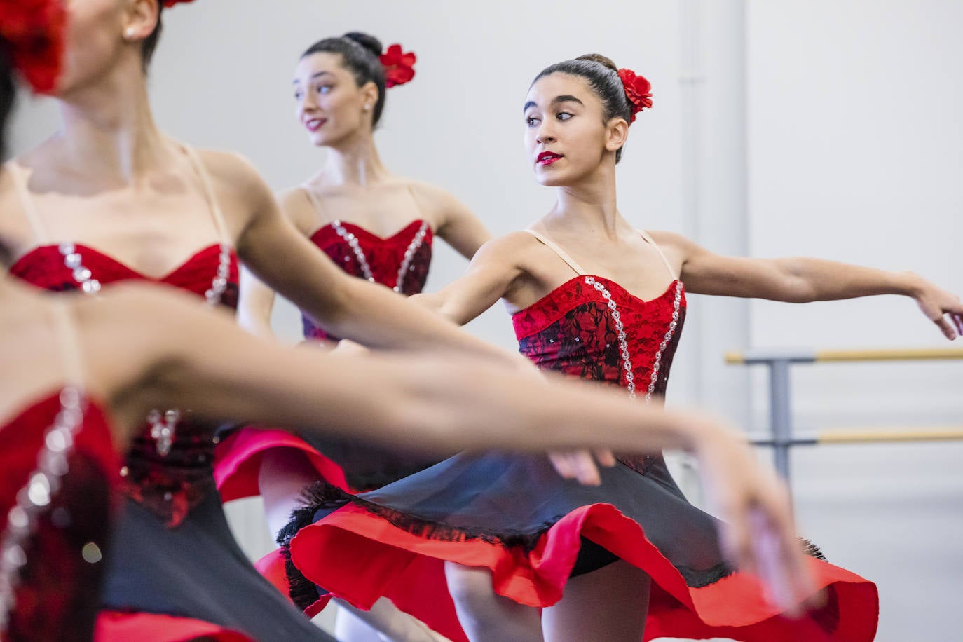
[[[61,98],[62,160],[82,174],[133,184],[169,157],[154,123],[140,59],[128,57],[106,77]]]

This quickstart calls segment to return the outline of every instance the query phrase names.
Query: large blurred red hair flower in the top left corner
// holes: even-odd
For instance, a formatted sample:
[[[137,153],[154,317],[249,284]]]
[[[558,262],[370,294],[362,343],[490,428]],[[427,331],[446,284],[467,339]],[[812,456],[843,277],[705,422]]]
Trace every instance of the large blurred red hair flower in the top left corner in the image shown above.
[[[13,67],[38,93],[57,85],[65,26],[60,0],[0,0],[0,37],[10,43]]]

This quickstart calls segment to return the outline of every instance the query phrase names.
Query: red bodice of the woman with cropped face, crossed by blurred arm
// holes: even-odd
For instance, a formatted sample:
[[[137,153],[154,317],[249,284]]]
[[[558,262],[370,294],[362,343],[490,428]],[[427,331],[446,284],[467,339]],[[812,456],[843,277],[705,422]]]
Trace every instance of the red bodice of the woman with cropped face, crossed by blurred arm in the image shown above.
[[[220,255],[219,245],[209,245],[176,270],[160,279],[151,279],[92,247],[75,246],[83,257],[84,266],[104,287],[129,280],[155,282],[194,293],[201,301],[217,274]],[[20,257],[10,271],[45,290],[65,292],[77,289],[73,272],[65,266],[64,256],[57,245],[36,247]],[[233,253],[227,282],[221,304],[234,309],[238,301],[238,263]],[[169,454],[161,456],[150,438],[149,426],[144,424],[124,460],[125,492],[168,526],[180,524],[191,508],[215,489],[212,470],[214,427],[192,420],[190,412],[184,413],[184,418],[177,424]]]

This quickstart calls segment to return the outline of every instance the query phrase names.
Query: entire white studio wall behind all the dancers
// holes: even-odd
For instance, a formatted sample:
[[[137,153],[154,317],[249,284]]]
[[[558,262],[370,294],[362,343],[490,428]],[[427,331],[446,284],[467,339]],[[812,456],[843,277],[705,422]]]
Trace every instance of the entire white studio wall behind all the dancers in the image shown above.
[[[953,0],[559,0],[366,3],[203,0],[166,13],[151,71],[161,125],[246,154],[271,185],[297,183],[324,154],[293,116],[293,66],[315,39],[363,30],[419,55],[391,90],[378,134],[389,167],[443,186],[496,234],[552,202],[522,155],[521,106],[545,65],[598,51],[646,75],[655,109],[619,166],[622,212],[720,251],[817,255],[916,270],[963,292],[953,270],[963,187],[963,47]],[[25,101],[13,147],[55,126]],[[439,244],[429,289],[464,262]],[[761,372],[721,365],[728,347],[942,346],[897,297],[789,306],[693,296],[670,402],[765,427]],[[297,316],[277,315],[294,340]],[[496,308],[472,324],[512,345]],[[812,366],[794,371],[807,426],[961,422],[959,365]],[[880,640],[953,639],[963,612],[959,445],[823,447],[794,455],[803,532],[876,580]],[[765,456],[763,453],[761,456]],[[238,513],[236,511],[236,513]],[[270,538],[247,507],[247,550]]]

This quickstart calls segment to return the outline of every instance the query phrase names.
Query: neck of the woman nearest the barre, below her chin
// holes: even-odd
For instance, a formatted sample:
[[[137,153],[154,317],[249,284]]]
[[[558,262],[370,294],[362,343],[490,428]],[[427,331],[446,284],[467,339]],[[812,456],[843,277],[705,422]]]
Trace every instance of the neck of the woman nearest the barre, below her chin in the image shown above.
[[[579,234],[616,239],[626,224],[615,203],[615,167],[603,164],[591,175],[556,189],[556,204],[546,223]]]

